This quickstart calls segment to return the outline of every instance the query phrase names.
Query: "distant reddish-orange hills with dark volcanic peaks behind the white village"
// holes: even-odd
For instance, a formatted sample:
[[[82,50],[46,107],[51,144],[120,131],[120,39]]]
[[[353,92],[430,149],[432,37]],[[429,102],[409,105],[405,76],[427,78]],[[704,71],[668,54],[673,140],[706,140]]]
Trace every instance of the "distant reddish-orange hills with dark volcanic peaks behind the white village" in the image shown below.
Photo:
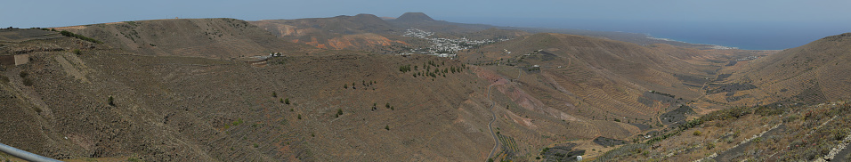
[[[436,32],[437,37],[490,39],[525,35],[518,30],[497,30],[488,25],[462,24],[433,20],[422,12],[405,13],[397,19],[383,20],[372,14],[336,16],[332,18],[308,18],[297,20],[251,21],[260,28],[288,42],[311,45],[321,49],[356,50],[373,53],[393,54],[405,50],[431,45],[416,37],[402,36],[409,28]]]

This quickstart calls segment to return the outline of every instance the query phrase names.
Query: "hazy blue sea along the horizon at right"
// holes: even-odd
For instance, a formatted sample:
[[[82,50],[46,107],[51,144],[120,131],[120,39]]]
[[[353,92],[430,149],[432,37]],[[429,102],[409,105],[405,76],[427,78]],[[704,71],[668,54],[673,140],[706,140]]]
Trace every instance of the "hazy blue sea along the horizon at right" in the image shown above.
[[[782,50],[825,36],[851,32],[851,22],[554,20],[511,18],[447,18],[448,21],[532,28],[575,28],[643,33],[658,38],[746,50]]]

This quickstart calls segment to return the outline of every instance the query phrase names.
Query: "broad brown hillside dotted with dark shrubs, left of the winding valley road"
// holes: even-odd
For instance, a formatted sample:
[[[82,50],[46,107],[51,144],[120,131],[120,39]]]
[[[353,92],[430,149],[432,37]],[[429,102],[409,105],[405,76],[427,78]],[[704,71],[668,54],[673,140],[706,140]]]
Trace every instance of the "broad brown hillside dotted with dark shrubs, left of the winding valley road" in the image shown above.
[[[329,51],[251,65],[94,45],[4,69],[0,141],[51,158],[150,161],[478,161],[490,150],[470,148],[493,145],[484,80],[399,70],[457,61]]]

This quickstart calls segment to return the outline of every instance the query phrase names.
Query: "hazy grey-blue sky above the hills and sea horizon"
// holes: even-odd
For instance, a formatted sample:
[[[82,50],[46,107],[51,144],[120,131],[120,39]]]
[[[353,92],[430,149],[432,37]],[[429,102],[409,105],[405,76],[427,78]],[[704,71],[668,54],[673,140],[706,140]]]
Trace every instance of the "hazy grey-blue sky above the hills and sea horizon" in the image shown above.
[[[730,30],[811,24],[812,28],[795,28],[833,33],[851,31],[849,7],[849,0],[3,0],[0,27],[62,27],[174,17],[271,20],[358,13],[396,17],[404,12],[425,12],[436,20],[456,22],[651,34],[663,28],[687,30],[709,24],[726,24],[719,28]],[[755,27],[760,25],[766,27]],[[831,35],[835,34],[841,32]]]

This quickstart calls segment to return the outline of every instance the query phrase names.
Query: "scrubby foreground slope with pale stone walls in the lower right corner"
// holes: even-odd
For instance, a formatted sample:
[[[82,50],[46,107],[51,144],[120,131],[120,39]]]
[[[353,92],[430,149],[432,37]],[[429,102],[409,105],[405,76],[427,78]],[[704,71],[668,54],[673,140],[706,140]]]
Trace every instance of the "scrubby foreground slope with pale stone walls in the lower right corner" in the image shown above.
[[[594,161],[848,161],[848,112],[845,101],[723,109]]]

